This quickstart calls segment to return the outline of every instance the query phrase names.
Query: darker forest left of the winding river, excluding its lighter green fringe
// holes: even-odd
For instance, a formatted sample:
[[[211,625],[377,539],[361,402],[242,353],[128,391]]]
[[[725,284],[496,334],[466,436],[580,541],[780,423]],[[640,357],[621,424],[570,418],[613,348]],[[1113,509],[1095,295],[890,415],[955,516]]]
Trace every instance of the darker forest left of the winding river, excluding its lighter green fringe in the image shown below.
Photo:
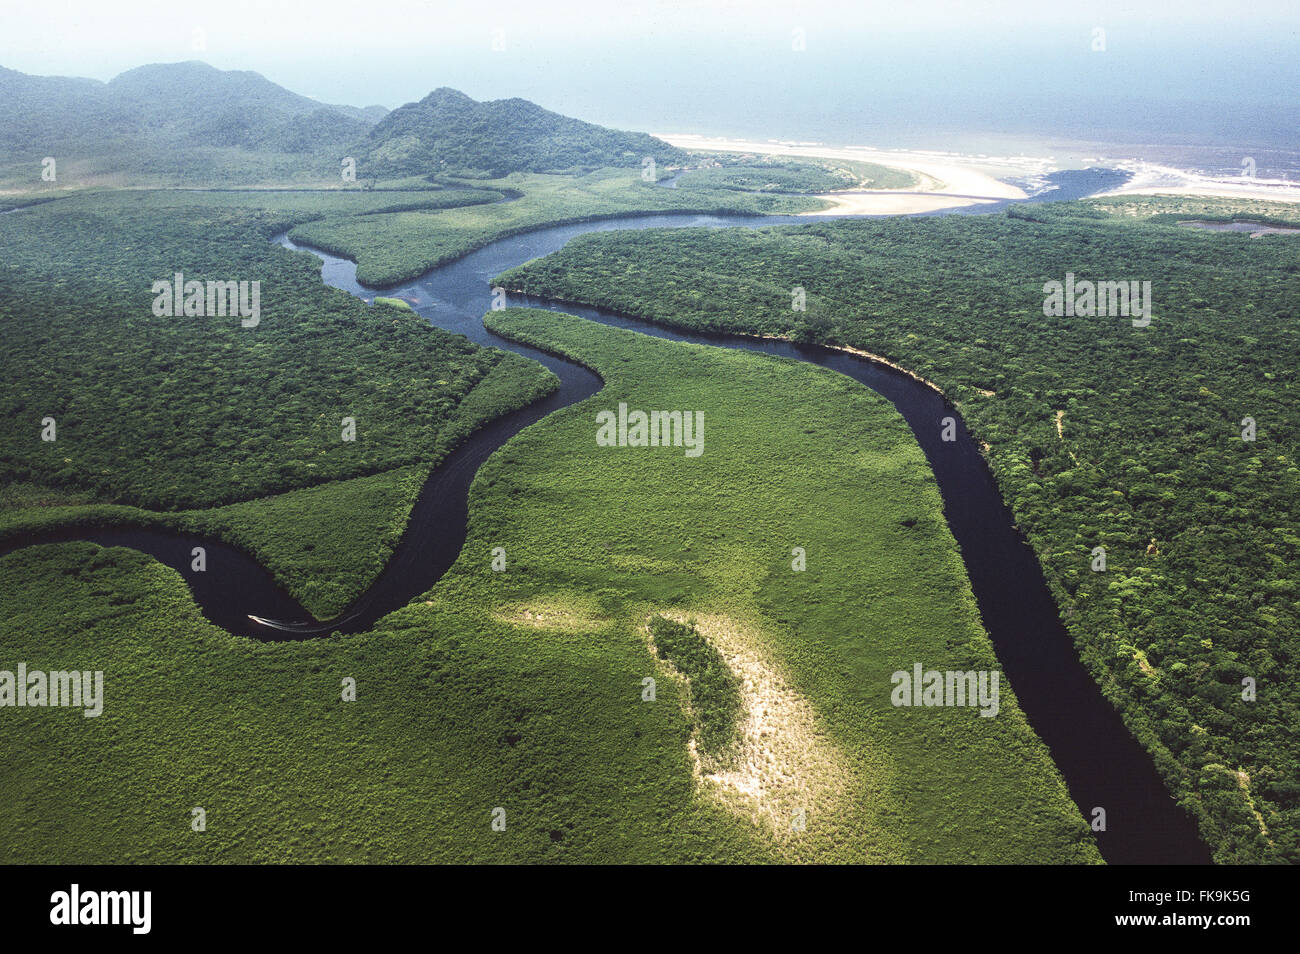
[[[321,286],[256,211],[112,214],[64,200],[0,224],[6,476],[161,509],[428,463],[504,357]],[[260,281],[261,317],[157,317],[151,283]],[[526,367],[523,364],[520,367]],[[147,386],[142,387],[142,382]],[[42,441],[42,419],[57,441]],[[343,417],[356,439],[341,439]],[[161,451],[161,452],[160,452]]]

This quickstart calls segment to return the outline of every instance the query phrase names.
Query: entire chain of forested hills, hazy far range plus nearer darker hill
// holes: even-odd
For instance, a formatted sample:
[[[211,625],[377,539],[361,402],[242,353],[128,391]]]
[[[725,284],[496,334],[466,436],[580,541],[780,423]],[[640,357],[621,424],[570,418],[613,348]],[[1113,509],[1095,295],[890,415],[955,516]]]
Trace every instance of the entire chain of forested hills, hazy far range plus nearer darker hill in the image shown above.
[[[645,133],[606,129],[523,99],[478,103],[447,87],[389,112],[318,103],[259,73],[198,61],[139,66],[107,83],[0,68],[0,164],[58,155],[103,159],[101,169],[133,173],[179,161],[160,160],[161,153],[196,149],[255,153],[264,165],[276,156],[311,157],[321,168],[351,156],[358,175],[370,179],[495,178],[685,160],[681,149]]]

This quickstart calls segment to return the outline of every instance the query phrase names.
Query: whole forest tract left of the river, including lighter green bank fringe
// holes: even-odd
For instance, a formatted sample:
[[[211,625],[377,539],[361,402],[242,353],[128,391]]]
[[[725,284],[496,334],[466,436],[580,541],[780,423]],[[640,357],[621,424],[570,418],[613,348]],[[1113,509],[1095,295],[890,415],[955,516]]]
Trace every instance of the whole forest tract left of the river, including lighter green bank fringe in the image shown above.
[[[266,239],[325,211],[458,195],[481,196],[108,192],[0,218],[0,537],[207,529],[313,611],[341,608],[384,565],[422,474],[555,380],[328,289],[315,256]],[[152,283],[176,272],[260,282],[259,324],[157,317]]]

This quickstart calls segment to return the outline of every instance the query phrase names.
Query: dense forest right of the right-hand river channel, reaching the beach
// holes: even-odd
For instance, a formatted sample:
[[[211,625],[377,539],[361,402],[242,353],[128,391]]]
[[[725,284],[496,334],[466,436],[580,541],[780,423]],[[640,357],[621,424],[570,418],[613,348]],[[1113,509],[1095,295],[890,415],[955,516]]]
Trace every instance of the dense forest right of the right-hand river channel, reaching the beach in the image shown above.
[[[1216,216],[1296,221],[1277,204],[1123,198],[603,233],[497,281],[854,346],[936,382],[987,443],[1086,664],[1216,859],[1295,862],[1300,240],[1176,225]],[[1044,286],[1066,273],[1152,282],[1150,324],[1046,316]],[[796,286],[806,312],[790,309]]]

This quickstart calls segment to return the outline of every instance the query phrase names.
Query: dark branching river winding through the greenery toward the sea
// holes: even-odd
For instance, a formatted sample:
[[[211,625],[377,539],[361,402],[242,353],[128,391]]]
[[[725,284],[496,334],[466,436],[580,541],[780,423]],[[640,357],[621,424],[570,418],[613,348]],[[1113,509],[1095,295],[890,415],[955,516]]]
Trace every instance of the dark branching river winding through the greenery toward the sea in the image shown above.
[[[1123,181],[1112,170],[1057,173],[1057,188],[1036,200],[1080,198]],[[1005,204],[959,209],[987,213]],[[5,551],[36,542],[88,539],[129,546],[177,569],[190,584],[204,615],[231,633],[260,639],[303,639],[369,629],[384,615],[428,590],[455,561],[465,539],[469,485],[478,467],[529,424],[595,394],[601,380],[572,361],[494,335],[482,316],[491,305],[491,279],[529,259],[562,248],[575,235],[645,227],[758,227],[806,225],[806,217],[718,217],[698,214],[628,216],[556,226],[500,239],[413,282],[385,289],[403,298],[432,324],[480,344],[530,357],[550,368],[560,389],[550,396],[497,419],[472,434],[429,477],[412,509],[396,551],[365,594],[339,617],[313,620],[252,558],[224,543],[152,530],[68,530],[21,541]],[[286,235],[274,238],[294,248]],[[356,282],[356,265],[312,250],[324,263],[324,281],[370,300],[377,294]],[[1086,819],[1106,811],[1108,829],[1097,833],[1112,863],[1208,863],[1209,853],[1195,824],[1169,797],[1150,758],[1124,728],[1079,662],[1061,624],[1037,559],[1015,529],[979,447],[959,428],[957,442],[940,439],[940,420],[957,412],[941,395],[914,378],[870,360],[816,346],[708,335],[651,325],[602,309],[559,305],[526,296],[510,304],[554,308],[606,325],[671,341],[745,348],[809,361],[848,374],[887,398],[907,420],[933,468],[944,512],[961,546],[966,572],[993,641],[1031,725],[1048,745]],[[190,571],[190,550],[207,547],[208,569]],[[220,569],[220,572],[214,572]]]

